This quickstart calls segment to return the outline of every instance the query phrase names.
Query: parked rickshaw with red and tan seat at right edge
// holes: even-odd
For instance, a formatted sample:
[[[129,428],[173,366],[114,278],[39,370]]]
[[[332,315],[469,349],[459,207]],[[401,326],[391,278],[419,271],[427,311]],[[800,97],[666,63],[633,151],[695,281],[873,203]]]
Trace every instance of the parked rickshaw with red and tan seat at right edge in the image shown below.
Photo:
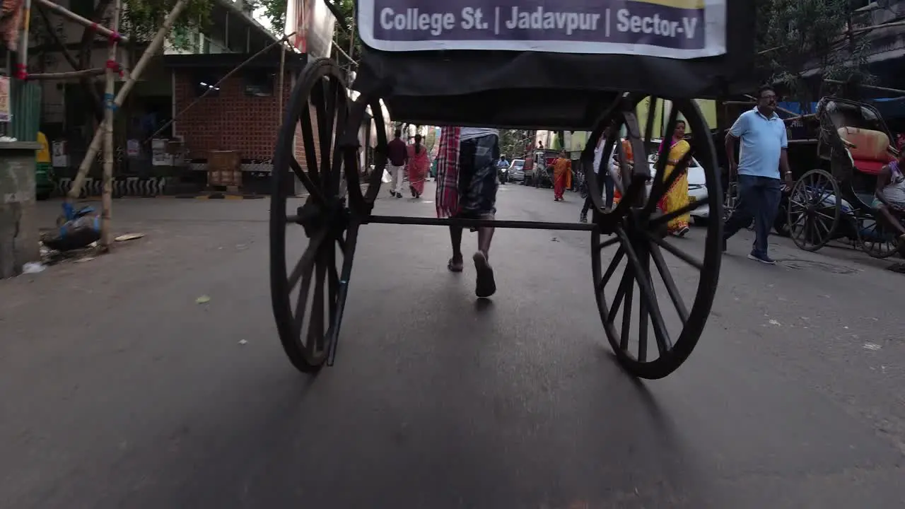
[[[876,258],[895,254],[898,235],[872,206],[877,175],[899,154],[880,112],[863,102],[824,97],[815,121],[820,168],[797,179],[786,206],[795,245],[816,251],[848,239]]]

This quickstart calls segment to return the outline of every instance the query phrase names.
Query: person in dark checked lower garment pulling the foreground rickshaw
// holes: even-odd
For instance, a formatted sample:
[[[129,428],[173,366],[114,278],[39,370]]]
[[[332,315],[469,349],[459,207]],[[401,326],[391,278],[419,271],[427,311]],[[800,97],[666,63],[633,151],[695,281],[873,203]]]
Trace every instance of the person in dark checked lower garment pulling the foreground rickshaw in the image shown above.
[[[437,217],[494,219],[499,180],[500,131],[495,129],[444,127],[437,155]],[[476,228],[478,250],[472,256],[477,271],[474,293],[479,298],[497,291],[490,264],[493,227]],[[473,231],[473,229],[472,229]],[[462,272],[462,227],[450,226],[452,258],[447,268]]]

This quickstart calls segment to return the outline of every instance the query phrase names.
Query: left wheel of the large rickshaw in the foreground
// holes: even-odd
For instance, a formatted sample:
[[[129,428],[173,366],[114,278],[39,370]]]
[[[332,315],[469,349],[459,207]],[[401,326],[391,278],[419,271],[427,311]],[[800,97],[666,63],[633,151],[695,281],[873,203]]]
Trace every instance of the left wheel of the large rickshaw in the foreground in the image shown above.
[[[349,220],[345,181],[357,182],[356,149],[344,158],[339,147],[350,102],[335,63],[309,63],[291,92],[273,158],[273,317],[283,350],[303,372],[320,370],[335,346],[355,254],[357,223]],[[295,197],[296,181],[307,196]]]

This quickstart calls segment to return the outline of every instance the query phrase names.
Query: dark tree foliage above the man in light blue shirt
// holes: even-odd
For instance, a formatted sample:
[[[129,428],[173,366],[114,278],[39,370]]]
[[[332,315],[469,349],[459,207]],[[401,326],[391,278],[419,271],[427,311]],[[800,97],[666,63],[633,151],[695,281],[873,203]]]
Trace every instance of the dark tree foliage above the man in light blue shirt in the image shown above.
[[[848,33],[848,0],[761,0],[757,2],[757,69],[765,82],[810,102],[805,78],[871,81],[867,38]]]

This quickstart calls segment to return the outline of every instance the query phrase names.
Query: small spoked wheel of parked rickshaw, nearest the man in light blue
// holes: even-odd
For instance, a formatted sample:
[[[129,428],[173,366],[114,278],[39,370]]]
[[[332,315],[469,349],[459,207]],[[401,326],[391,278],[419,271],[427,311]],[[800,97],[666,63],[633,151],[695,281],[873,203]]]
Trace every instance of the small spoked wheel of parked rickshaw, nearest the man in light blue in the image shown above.
[[[829,172],[812,169],[795,182],[789,196],[789,235],[799,248],[816,251],[833,240],[842,214],[839,184]]]

